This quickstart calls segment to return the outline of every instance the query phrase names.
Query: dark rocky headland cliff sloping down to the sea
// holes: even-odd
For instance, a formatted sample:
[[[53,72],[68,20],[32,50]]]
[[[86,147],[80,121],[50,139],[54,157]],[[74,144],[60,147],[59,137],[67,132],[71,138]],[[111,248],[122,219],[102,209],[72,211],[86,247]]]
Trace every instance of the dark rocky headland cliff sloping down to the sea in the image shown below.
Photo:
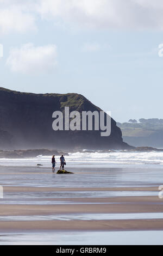
[[[54,131],[54,111],[101,111],[79,94],[32,94],[0,88],[0,148],[129,149],[111,119],[111,135],[101,131]],[[6,136],[5,136],[6,134]],[[3,138],[1,138],[3,135]]]

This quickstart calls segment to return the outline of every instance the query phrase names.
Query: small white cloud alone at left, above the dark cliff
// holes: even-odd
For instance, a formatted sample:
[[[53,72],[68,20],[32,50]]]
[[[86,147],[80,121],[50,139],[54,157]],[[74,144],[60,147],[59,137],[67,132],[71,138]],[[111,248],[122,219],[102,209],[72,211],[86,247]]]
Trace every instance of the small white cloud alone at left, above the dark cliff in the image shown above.
[[[51,72],[57,65],[57,47],[46,45],[34,47],[24,44],[21,48],[12,48],[6,63],[12,72],[22,74],[42,74]]]

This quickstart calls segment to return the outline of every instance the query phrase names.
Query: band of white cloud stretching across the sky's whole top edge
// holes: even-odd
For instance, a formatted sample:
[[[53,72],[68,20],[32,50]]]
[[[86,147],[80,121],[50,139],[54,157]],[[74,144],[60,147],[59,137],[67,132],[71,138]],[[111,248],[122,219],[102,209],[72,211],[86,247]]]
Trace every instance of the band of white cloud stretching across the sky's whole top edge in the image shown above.
[[[163,29],[162,0],[0,0],[0,33],[36,29],[36,19],[68,28]]]

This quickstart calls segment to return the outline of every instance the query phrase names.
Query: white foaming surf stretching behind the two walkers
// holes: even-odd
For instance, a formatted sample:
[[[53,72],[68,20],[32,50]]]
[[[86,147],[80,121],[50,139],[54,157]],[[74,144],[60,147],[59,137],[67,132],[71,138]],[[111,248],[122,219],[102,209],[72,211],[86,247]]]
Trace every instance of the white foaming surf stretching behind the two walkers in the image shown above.
[[[112,164],[121,166],[123,164],[163,164],[163,152],[128,152],[128,151],[114,151],[110,153],[100,152],[77,152],[69,153],[65,157],[68,166],[112,166]],[[59,166],[59,156],[56,157]],[[0,159],[0,165],[3,166],[34,166],[37,163],[43,166],[51,165],[51,156],[37,156],[29,159]]]

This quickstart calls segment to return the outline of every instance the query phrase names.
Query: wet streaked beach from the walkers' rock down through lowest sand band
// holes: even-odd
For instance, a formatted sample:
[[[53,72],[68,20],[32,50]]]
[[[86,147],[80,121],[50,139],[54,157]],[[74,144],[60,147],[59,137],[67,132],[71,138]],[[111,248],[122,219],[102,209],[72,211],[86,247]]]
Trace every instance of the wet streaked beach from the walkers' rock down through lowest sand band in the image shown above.
[[[16,168],[11,176],[0,168],[4,198],[0,199],[1,233],[48,231],[131,231],[163,230],[163,217],[148,220],[146,214],[163,214],[163,199],[158,197],[162,170],[79,169],[76,174],[41,173],[36,168]],[[32,173],[33,170],[33,173]],[[148,176],[152,172],[152,179]],[[32,173],[32,174],[31,174]],[[159,178],[156,174],[159,173]],[[145,179],[142,177],[145,176]],[[43,180],[44,179],[44,180]],[[43,182],[44,185],[43,186]],[[141,196],[136,196],[137,194]],[[121,195],[121,196],[120,196]],[[78,215],[145,214],[142,219],[79,220]],[[67,220],[40,220],[41,216],[67,216]],[[74,220],[68,216],[74,215]],[[5,220],[5,216],[10,220]],[[12,217],[13,216],[13,217]],[[26,220],[14,220],[14,216]],[[38,216],[38,219],[37,219]],[[35,220],[31,220],[35,217]],[[13,220],[12,220],[13,218]],[[0,233],[0,234],[1,234]],[[41,234],[41,233],[40,233]],[[1,241],[0,241],[1,243]]]

